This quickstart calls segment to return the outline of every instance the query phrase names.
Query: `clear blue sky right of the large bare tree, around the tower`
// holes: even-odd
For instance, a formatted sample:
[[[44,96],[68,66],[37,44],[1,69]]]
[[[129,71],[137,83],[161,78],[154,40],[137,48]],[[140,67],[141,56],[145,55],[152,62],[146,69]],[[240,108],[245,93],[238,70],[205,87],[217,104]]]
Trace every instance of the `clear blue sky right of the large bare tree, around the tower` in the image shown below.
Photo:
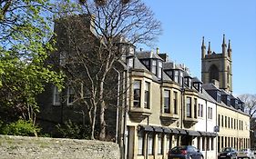
[[[222,35],[232,48],[233,94],[256,94],[255,0],[144,0],[162,23],[161,53],[200,78],[202,36],[221,52]],[[154,48],[155,49],[155,48]]]

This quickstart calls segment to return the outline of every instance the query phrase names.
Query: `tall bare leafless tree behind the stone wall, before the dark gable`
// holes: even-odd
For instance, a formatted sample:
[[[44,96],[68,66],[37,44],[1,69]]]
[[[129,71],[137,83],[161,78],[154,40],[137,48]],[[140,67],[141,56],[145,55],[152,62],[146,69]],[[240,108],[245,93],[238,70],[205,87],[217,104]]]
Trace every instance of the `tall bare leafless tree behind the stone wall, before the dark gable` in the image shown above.
[[[69,84],[83,85],[76,101],[87,109],[91,138],[98,112],[99,139],[105,139],[105,110],[109,105],[105,87],[123,55],[120,45],[126,43],[134,49],[138,43],[152,44],[160,34],[160,23],[141,0],[80,0],[79,5],[66,4],[63,8],[72,8],[72,12],[59,15],[58,53],[66,59],[62,68]]]

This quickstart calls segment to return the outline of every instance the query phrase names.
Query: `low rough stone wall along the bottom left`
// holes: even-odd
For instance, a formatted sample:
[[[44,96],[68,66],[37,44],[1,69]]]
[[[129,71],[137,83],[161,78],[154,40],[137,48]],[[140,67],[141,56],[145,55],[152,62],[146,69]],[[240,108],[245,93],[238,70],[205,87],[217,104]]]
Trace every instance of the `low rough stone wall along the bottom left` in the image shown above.
[[[119,147],[92,140],[0,135],[0,158],[119,159]]]

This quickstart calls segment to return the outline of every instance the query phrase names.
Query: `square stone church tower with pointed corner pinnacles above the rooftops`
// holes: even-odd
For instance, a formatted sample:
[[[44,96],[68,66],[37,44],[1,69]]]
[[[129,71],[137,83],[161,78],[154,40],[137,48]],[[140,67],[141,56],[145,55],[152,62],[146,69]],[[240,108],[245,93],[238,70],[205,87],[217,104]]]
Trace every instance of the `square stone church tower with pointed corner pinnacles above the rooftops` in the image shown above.
[[[222,52],[216,54],[211,51],[210,42],[208,52],[206,54],[206,46],[204,45],[204,37],[201,45],[201,80],[204,84],[219,82],[219,88],[232,93],[232,49],[230,40],[228,48],[226,45],[225,35],[222,40]]]

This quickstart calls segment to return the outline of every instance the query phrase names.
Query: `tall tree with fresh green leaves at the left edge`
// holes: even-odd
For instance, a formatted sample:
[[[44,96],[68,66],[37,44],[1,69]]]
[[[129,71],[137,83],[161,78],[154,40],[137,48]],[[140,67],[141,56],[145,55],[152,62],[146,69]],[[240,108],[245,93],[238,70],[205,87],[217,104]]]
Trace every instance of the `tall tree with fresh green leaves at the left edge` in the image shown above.
[[[45,65],[54,50],[48,42],[50,6],[49,0],[0,1],[0,109],[5,120],[22,116],[35,124],[36,95],[46,83],[61,86],[63,76]]]

